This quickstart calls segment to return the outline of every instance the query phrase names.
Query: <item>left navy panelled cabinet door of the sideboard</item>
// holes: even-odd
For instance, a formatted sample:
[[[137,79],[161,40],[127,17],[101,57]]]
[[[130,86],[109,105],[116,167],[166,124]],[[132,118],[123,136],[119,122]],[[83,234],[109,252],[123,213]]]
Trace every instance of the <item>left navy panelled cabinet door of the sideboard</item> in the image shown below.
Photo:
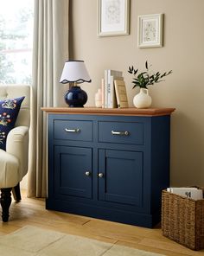
[[[55,146],[54,158],[56,193],[92,198],[92,149]]]

